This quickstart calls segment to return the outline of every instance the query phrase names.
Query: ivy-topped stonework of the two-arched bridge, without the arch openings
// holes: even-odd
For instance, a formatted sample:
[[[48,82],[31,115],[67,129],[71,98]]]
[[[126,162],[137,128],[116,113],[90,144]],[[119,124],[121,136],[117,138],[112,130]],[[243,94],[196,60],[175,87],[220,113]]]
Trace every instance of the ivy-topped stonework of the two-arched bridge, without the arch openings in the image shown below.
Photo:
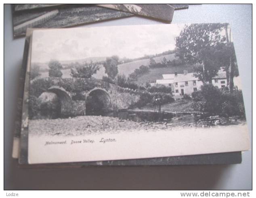
[[[98,79],[62,79],[56,77],[48,77],[44,79],[48,81],[48,83],[43,82],[44,85],[48,85],[44,90],[46,89],[47,92],[57,94],[59,98],[61,103],[61,117],[86,115],[86,98],[92,92],[94,92],[94,97],[96,94],[100,100],[106,100],[107,110],[127,109],[136,104],[140,99],[140,95],[136,91],[128,88],[121,88],[118,85]],[[38,90],[38,86],[33,86],[35,82],[36,81],[33,81],[31,83],[31,88]],[[80,95],[81,99],[72,99],[77,94]]]

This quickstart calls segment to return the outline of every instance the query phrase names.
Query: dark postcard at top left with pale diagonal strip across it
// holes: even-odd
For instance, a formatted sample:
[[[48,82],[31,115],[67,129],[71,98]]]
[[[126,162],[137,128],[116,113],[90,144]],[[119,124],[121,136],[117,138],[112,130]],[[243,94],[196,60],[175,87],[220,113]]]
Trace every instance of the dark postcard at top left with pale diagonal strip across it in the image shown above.
[[[17,9],[17,6],[15,6],[15,8]],[[133,14],[131,13],[126,13],[118,10],[93,5],[75,4],[43,6],[39,7],[38,9],[28,9],[19,12],[14,11],[13,35],[14,37],[24,36],[26,33],[26,29],[32,27],[70,27],[97,21],[130,17],[132,15]]]

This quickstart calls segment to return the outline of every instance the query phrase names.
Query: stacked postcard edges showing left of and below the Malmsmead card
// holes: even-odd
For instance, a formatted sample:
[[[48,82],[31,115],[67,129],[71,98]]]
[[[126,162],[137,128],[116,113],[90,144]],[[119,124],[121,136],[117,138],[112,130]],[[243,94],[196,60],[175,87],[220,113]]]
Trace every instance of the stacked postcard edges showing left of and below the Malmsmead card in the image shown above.
[[[23,101],[28,100],[29,88],[29,72],[30,71],[30,52],[31,52],[31,34],[33,29],[27,29],[22,69],[25,71],[21,73],[21,91],[17,106],[17,119],[15,125],[15,136],[13,140],[13,157],[19,157],[19,165],[26,167],[28,165],[28,125],[25,125],[28,119],[28,103]],[[25,77],[27,75],[27,77]],[[27,79],[25,81],[25,79]],[[25,85],[24,85],[25,84]],[[23,92],[25,94],[23,94]],[[24,100],[23,100],[23,96]],[[22,108],[23,106],[23,108]],[[22,113],[23,112],[23,113]],[[21,122],[21,116],[23,122]],[[22,123],[22,127],[21,127]],[[21,130],[22,129],[22,130]],[[21,144],[19,144],[21,142]],[[234,164],[241,163],[241,152],[228,152],[216,154],[199,154],[190,156],[172,156],[172,157],[157,157],[157,158],[143,158],[143,159],[129,159],[129,160],[106,160],[94,162],[81,163],[57,163],[57,164],[40,164],[29,165],[31,168],[64,168],[64,167],[85,167],[85,166],[138,166],[138,165],[200,165],[200,164]]]

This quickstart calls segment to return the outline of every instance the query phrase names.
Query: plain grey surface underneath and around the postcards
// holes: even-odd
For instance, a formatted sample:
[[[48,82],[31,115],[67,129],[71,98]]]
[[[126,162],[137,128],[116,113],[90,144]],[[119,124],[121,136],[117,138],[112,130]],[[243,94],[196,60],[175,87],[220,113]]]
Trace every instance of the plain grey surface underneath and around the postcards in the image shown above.
[[[176,10],[172,21],[172,23],[218,22],[228,22],[232,28],[252,144],[252,5],[190,5],[189,9]],[[158,23],[161,22],[129,17],[85,26]],[[251,150],[242,154],[242,163],[237,165],[20,169],[17,161],[11,158],[11,151],[24,41],[24,38],[13,39],[10,5],[4,5],[4,189],[252,189]]]

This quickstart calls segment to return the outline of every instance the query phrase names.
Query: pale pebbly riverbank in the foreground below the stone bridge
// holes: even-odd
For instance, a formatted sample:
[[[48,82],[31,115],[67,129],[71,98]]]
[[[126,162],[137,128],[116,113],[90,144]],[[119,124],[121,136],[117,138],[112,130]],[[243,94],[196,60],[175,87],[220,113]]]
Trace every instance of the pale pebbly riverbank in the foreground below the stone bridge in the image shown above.
[[[187,116],[188,117],[188,116]],[[80,116],[68,119],[29,120],[29,133],[35,135],[84,135],[119,133],[120,131],[158,131],[172,130],[173,127],[213,127],[245,123],[237,117],[222,118],[212,116],[205,119],[174,117],[163,121],[135,122],[117,117]]]

